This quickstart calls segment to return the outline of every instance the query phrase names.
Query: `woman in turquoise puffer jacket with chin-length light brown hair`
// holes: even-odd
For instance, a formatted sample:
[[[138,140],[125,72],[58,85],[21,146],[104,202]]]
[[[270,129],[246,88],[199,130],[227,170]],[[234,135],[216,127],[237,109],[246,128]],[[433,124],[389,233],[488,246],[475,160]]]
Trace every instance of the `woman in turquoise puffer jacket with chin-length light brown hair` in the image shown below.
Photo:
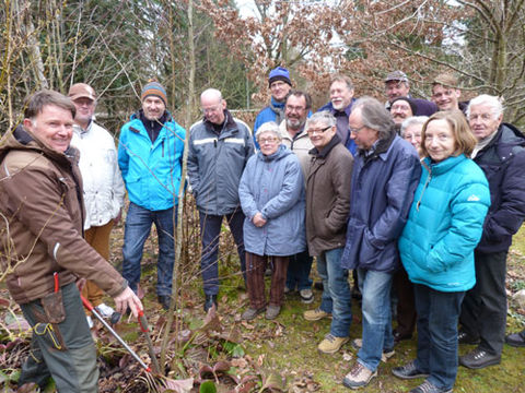
[[[412,393],[452,392],[457,374],[457,320],[476,283],[474,249],[490,205],[482,170],[468,156],[476,139],[460,111],[434,114],[422,130],[423,170],[399,239],[415,284],[418,355],[392,370],[427,378]]]

